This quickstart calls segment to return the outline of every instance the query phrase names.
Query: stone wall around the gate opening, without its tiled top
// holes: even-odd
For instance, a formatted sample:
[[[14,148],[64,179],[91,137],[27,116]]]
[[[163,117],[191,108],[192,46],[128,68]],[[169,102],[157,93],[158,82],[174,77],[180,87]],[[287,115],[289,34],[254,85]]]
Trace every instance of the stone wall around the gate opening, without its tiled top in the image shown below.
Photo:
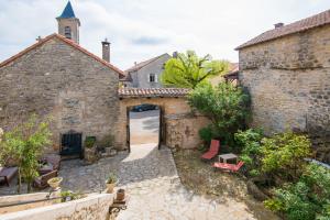
[[[164,114],[161,124],[165,130],[165,142],[169,147],[193,148],[201,143],[198,131],[206,127],[209,120],[191,113],[186,98],[124,98],[120,100],[120,116],[117,132],[117,145],[127,148],[128,108],[150,103],[158,106]]]

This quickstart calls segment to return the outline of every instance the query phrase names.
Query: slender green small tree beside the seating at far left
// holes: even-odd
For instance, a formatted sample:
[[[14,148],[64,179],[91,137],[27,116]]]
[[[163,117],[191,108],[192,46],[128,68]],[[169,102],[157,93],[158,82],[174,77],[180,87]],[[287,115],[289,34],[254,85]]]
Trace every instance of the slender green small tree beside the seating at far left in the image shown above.
[[[38,175],[38,158],[44,146],[51,143],[51,135],[48,121],[38,122],[34,114],[28,121],[4,132],[0,142],[0,160],[3,164],[8,161],[16,163],[18,193],[21,193],[22,178],[28,183],[28,193],[31,191],[31,183]]]

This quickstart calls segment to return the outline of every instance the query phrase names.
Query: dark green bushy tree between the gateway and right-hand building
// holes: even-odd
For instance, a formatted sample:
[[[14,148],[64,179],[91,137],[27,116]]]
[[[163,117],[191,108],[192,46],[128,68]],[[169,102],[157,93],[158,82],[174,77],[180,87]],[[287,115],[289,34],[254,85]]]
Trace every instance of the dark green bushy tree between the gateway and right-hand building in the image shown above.
[[[244,129],[250,116],[249,95],[227,82],[215,88],[210,84],[197,86],[189,94],[188,103],[211,120],[216,138],[223,138],[227,144],[233,142],[239,129]]]

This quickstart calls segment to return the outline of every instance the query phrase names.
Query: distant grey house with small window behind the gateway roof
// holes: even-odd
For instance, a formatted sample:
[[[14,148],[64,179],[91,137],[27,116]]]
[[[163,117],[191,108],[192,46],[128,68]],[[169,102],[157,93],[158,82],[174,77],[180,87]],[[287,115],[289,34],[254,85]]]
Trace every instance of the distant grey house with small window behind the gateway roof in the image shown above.
[[[162,88],[160,81],[165,63],[170,58],[168,54],[135,63],[134,66],[125,70],[127,77],[122,79],[124,87],[135,88]]]

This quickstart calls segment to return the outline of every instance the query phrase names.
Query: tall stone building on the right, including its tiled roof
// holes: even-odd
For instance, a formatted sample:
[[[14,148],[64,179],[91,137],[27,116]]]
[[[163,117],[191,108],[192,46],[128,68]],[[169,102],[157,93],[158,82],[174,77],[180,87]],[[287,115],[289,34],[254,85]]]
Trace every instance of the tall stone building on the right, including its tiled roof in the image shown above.
[[[237,48],[239,80],[252,96],[253,122],[330,141],[330,10],[270,30]],[[324,142],[322,142],[324,143]]]

